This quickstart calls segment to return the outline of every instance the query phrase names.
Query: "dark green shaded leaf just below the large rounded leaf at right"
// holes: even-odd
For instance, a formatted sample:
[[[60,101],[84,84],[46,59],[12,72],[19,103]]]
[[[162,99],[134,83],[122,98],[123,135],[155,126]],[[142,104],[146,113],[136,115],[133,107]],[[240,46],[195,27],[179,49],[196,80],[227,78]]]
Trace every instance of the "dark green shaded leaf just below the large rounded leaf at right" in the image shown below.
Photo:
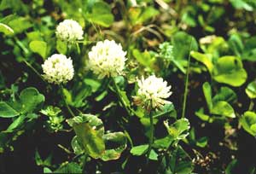
[[[225,102],[233,103],[233,102],[236,102],[236,99],[237,99],[236,92],[224,86],[224,87],[221,87],[217,95],[215,95],[212,98],[212,102],[216,103],[219,101],[225,101]]]

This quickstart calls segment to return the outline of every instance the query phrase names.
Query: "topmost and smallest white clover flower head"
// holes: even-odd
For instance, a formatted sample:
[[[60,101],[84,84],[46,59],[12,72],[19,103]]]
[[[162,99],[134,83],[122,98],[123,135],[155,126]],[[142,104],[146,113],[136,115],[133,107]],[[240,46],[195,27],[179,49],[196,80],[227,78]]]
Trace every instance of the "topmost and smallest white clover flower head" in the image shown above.
[[[83,28],[75,20],[64,20],[56,27],[56,37],[69,43],[83,39]]]

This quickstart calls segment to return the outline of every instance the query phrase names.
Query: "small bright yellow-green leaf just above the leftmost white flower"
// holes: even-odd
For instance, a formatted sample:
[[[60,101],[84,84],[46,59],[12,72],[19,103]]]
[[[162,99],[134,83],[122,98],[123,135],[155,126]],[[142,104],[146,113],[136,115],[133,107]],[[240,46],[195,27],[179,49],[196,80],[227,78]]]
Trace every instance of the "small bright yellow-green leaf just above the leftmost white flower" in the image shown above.
[[[32,52],[46,58],[47,44],[44,41],[34,40],[29,44],[29,48],[32,49]]]

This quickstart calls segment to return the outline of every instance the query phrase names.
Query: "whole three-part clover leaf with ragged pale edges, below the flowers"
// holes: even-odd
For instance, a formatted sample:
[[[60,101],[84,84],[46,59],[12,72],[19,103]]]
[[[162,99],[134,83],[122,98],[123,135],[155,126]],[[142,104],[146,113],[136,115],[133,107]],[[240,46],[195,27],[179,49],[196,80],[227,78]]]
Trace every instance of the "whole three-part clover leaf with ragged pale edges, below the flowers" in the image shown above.
[[[75,154],[89,154],[94,159],[108,161],[119,159],[126,148],[126,136],[122,132],[104,134],[102,120],[95,115],[83,114],[68,119],[76,133],[71,142]]]

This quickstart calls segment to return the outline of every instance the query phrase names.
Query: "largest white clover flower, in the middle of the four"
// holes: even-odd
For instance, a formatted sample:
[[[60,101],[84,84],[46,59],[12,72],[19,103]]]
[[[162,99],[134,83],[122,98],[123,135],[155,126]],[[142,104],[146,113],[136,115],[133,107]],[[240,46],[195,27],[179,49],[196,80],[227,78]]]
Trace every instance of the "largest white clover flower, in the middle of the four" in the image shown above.
[[[116,77],[125,69],[126,52],[113,40],[98,42],[89,52],[88,67],[99,78]]]

